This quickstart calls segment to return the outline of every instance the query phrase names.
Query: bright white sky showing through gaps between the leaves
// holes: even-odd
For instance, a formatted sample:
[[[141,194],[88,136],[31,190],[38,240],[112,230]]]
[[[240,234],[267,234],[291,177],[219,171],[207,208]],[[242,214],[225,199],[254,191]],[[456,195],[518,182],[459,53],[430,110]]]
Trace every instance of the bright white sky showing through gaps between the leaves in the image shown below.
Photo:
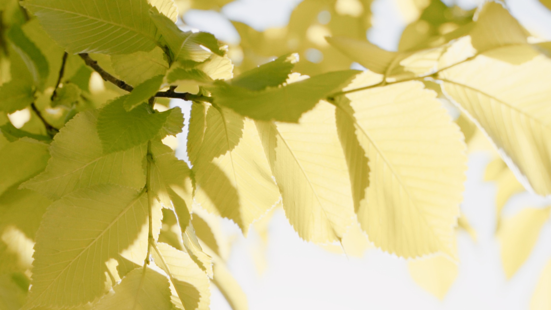
[[[185,15],[186,24],[206,30],[218,38],[239,42],[239,35],[228,18],[247,23],[258,30],[283,26],[300,0],[236,0],[226,5],[222,14],[193,10]],[[445,1],[446,3],[450,1]],[[457,1],[465,8],[477,5],[474,0]],[[529,30],[551,40],[551,12],[536,0],[510,0],[512,14]],[[372,6],[374,27],[369,39],[395,50],[404,26],[397,15],[395,0],[376,0]],[[305,60],[303,60],[305,61]],[[174,102],[186,110],[189,103]],[[187,131],[187,129],[185,129]],[[185,146],[185,134],[180,145]],[[185,149],[179,149],[185,158]],[[363,258],[347,258],[329,253],[302,241],[278,210],[269,226],[267,265],[258,275],[252,249],[258,236],[251,231],[245,239],[237,227],[224,221],[224,229],[234,239],[228,262],[233,275],[245,291],[251,310],[295,309],[528,309],[539,273],[551,258],[551,225],[542,229],[530,258],[509,281],[505,279],[495,238],[495,193],[493,183],[483,181],[490,154],[474,153],[469,158],[466,191],[461,206],[478,234],[473,242],[466,232],[458,236],[459,275],[443,301],[425,292],[409,276],[407,261],[380,250],[368,250]],[[525,206],[549,204],[534,195],[523,193],[505,206],[512,215]],[[230,309],[224,297],[213,288],[211,309]]]

